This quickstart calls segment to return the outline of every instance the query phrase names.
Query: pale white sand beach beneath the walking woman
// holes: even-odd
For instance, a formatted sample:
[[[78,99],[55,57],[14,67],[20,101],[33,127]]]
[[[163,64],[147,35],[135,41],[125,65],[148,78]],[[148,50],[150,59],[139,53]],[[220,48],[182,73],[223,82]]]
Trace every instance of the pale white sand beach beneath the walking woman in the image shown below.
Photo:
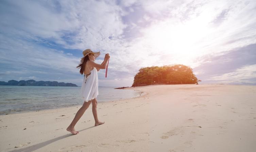
[[[80,107],[0,116],[1,152],[253,152],[256,86],[149,85],[137,98],[92,105],[66,128]],[[81,103],[82,104],[82,103]]]

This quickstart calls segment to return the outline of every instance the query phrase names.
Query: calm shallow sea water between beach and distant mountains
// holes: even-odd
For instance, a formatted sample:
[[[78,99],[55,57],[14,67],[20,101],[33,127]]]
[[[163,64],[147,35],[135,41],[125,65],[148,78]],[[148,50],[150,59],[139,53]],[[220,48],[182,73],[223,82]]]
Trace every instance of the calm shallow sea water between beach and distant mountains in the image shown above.
[[[142,92],[99,86],[97,102],[138,97]],[[0,85],[0,115],[83,105],[81,86]]]

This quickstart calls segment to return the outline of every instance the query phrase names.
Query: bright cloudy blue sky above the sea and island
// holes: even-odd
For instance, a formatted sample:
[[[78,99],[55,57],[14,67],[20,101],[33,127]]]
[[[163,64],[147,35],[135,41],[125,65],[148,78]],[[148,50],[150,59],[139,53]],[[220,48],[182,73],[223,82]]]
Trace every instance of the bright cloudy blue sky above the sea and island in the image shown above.
[[[132,86],[140,68],[173,64],[199,84],[256,85],[256,1],[0,1],[0,81],[81,86],[88,48],[97,64],[110,55],[99,86]]]

